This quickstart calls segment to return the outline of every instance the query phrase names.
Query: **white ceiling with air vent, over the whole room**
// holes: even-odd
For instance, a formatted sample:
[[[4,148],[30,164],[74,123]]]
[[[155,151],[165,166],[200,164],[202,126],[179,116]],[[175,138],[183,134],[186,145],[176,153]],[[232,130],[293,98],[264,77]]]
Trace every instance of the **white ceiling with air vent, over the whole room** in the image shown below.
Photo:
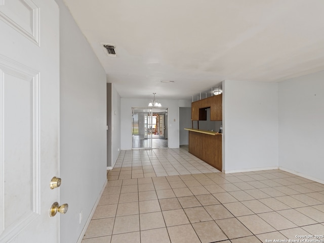
[[[191,99],[222,80],[324,70],[323,0],[64,2],[121,98]]]

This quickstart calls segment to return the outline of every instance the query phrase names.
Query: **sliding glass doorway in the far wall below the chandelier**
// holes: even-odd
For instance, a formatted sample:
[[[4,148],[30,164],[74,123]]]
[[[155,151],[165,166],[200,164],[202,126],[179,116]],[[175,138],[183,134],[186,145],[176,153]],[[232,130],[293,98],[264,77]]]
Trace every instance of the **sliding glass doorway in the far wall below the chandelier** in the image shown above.
[[[132,108],[132,148],[168,148],[168,109]]]

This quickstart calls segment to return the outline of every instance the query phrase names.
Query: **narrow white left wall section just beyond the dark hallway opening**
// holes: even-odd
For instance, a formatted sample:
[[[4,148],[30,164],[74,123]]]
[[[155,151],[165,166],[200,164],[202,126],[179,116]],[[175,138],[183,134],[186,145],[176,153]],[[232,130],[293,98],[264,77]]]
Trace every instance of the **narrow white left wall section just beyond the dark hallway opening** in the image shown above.
[[[120,153],[120,96],[111,84],[111,161],[112,167]]]

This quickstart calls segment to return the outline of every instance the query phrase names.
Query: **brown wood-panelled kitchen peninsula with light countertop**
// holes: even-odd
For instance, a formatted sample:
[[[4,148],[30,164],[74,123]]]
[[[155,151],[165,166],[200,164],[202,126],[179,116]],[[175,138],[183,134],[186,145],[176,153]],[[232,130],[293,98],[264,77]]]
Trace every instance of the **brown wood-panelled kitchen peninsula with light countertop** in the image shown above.
[[[189,131],[189,153],[222,171],[222,133],[184,129]]]

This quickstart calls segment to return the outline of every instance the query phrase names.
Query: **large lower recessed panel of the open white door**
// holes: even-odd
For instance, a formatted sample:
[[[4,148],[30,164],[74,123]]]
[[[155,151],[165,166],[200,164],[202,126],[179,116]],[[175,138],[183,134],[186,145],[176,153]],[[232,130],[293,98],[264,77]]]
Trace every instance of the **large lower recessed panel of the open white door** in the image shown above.
[[[4,179],[1,188],[2,233],[16,234],[39,214],[39,79],[18,63],[0,56]],[[13,163],[15,162],[15,163]],[[17,166],[19,168],[17,168]],[[25,200],[17,200],[23,198]],[[20,225],[20,227],[15,227]]]

